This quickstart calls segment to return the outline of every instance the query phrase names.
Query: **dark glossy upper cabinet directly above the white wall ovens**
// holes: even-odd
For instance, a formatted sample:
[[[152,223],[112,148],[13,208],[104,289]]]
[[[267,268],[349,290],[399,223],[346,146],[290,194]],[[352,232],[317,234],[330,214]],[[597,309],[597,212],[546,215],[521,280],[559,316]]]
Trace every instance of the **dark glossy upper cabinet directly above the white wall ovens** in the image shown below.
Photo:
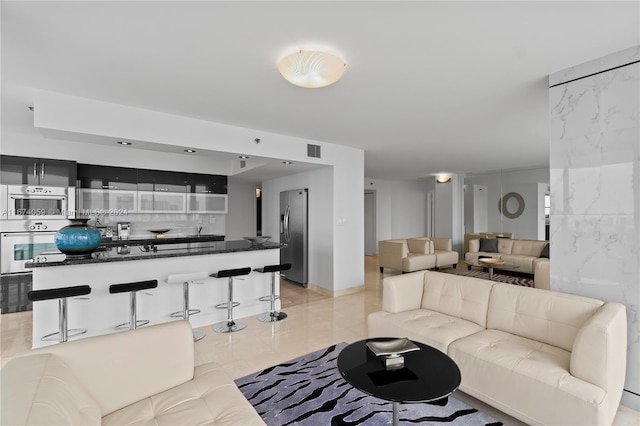
[[[75,186],[76,166],[75,161],[0,156],[3,185]]]

